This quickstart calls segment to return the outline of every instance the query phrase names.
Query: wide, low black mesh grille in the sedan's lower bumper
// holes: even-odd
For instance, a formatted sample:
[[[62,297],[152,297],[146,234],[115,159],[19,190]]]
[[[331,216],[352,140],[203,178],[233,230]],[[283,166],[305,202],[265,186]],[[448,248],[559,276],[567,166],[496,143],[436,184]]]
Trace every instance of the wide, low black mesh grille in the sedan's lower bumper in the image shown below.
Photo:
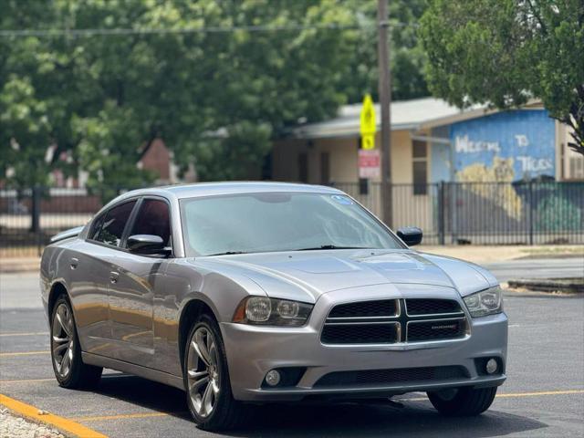
[[[448,381],[465,377],[468,377],[468,373],[460,366],[335,371],[318,379],[314,387],[391,385],[412,381]]]

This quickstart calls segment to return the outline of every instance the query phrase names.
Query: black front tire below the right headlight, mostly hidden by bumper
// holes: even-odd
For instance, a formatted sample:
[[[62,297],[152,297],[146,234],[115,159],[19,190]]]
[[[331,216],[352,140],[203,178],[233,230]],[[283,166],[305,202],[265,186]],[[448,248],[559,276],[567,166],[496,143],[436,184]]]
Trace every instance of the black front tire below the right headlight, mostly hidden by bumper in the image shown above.
[[[495,400],[497,387],[468,388],[428,392],[428,398],[438,412],[447,416],[474,416],[485,412]]]

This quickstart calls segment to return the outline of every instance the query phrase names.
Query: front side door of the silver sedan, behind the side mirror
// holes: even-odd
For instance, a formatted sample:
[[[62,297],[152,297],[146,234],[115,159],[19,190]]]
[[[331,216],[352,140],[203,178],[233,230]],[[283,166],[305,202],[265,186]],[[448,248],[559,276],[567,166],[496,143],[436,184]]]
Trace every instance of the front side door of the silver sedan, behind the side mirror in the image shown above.
[[[140,255],[126,249],[130,235],[159,235],[172,247],[170,207],[162,198],[145,197],[124,238],[110,272],[108,288],[116,359],[154,367],[153,306],[168,264],[167,255]]]

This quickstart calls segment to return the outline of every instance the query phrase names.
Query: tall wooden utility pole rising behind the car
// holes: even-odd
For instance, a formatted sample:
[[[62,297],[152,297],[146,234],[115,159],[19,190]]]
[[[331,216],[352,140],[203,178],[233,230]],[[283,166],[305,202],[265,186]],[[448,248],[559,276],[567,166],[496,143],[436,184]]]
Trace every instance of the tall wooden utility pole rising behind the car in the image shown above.
[[[393,205],[391,196],[391,71],[388,28],[388,0],[378,0],[378,61],[381,106],[381,208],[383,222],[391,226]]]

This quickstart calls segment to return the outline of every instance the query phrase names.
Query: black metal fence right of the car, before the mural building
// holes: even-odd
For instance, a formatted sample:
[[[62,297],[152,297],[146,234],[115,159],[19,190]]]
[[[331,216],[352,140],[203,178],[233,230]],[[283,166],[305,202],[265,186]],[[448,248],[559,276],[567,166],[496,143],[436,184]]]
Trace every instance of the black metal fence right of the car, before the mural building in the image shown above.
[[[335,184],[381,215],[379,183]],[[393,184],[392,227],[432,245],[584,244],[584,183]]]

